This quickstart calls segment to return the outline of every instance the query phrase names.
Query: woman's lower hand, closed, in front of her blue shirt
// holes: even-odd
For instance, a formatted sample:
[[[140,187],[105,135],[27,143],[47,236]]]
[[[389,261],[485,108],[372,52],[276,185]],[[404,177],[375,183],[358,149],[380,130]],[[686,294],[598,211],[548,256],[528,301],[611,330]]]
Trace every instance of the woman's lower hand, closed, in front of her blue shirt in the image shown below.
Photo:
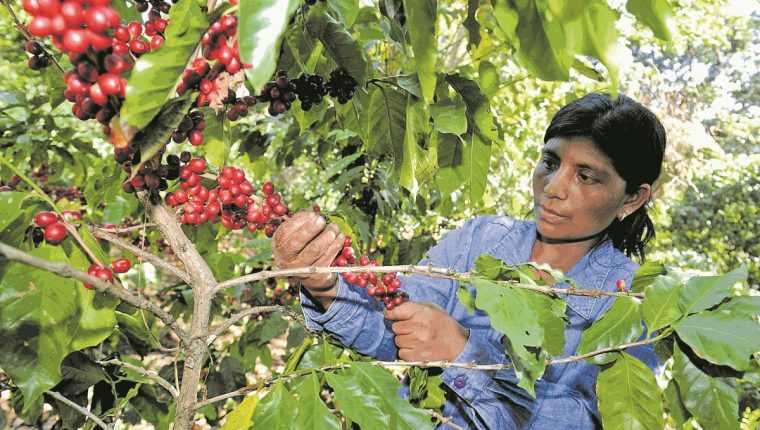
[[[454,361],[464,351],[469,333],[440,306],[406,302],[385,317],[395,321],[398,356],[404,361]]]

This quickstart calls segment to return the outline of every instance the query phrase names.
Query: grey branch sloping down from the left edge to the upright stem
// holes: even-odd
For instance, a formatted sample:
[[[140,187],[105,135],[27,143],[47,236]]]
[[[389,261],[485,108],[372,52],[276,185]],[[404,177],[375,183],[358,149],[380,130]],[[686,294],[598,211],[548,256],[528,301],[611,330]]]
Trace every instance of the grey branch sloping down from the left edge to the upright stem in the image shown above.
[[[177,334],[177,336],[180,338],[180,341],[183,344],[190,343],[190,336],[187,334],[187,332],[184,329],[182,329],[182,327],[180,327],[177,324],[177,321],[174,319],[173,316],[171,316],[171,314],[161,309],[160,307],[154,305],[153,303],[150,303],[149,301],[147,301],[146,299],[142,297],[133,296],[128,290],[124,288],[117,287],[113,284],[102,281],[100,278],[96,278],[84,272],[80,272],[79,270],[67,264],[57,263],[57,262],[44,260],[42,258],[37,258],[33,255],[27,254],[26,252],[20,249],[9,246],[3,242],[0,242],[0,255],[7,258],[8,260],[17,261],[19,263],[23,263],[28,266],[46,270],[48,272],[55,273],[56,275],[64,277],[64,278],[76,279],[76,280],[91,284],[95,287],[96,290],[100,292],[104,292],[104,293],[108,293],[113,296],[116,296],[120,298],[121,300],[131,304],[132,306],[135,306],[140,309],[144,309],[156,315],[156,317],[158,317],[167,326],[171,327],[171,329],[174,330],[174,332]]]

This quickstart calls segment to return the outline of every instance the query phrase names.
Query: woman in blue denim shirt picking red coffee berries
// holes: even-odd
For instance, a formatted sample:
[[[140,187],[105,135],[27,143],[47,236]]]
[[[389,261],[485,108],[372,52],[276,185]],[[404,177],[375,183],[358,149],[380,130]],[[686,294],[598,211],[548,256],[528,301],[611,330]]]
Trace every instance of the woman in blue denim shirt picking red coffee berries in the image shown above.
[[[660,174],[665,131],[632,99],[589,94],[563,107],[544,136],[533,173],[535,222],[508,217],[469,220],[428,252],[436,267],[468,271],[481,254],[507,264],[527,261],[561,269],[584,289],[615,291],[630,284],[654,236],[646,212]],[[299,213],[274,239],[281,268],[327,266],[344,237],[313,213]],[[551,281],[547,274],[541,273]],[[414,275],[403,280],[410,301],[383,314],[374,300],[335,275],[300,278],[307,326],[325,330],[362,353],[384,360],[506,363],[501,333],[482,312],[457,300],[455,281]],[[558,285],[561,287],[562,285]],[[470,291],[473,289],[467,286]],[[582,332],[612,305],[611,298],[568,296],[563,356],[574,355]],[[650,367],[649,347],[626,352]],[[512,371],[446,368],[443,414],[465,428],[589,429],[601,427],[595,395],[599,369],[585,361],[548,366],[536,398]]]

